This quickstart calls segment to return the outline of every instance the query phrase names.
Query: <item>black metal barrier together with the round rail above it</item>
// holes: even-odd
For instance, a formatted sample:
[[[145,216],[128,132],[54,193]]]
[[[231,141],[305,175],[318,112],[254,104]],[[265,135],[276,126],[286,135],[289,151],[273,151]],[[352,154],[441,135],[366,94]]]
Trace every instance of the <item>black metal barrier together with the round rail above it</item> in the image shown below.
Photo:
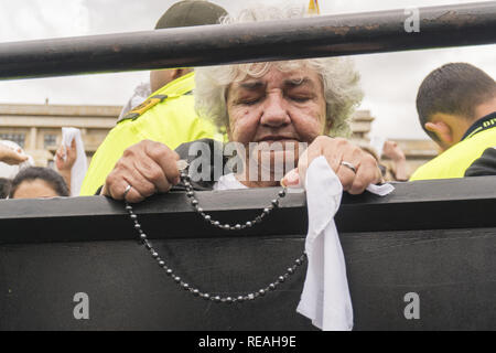
[[[496,2],[291,21],[170,29],[0,44],[0,78],[203,66],[496,42]],[[295,50],[298,49],[298,50]],[[385,197],[345,195],[336,224],[355,329],[496,329],[496,178],[397,184]],[[274,189],[200,192],[205,211],[250,220]],[[257,227],[211,228],[183,193],[136,206],[164,260],[216,293],[271,281],[303,252],[303,194]],[[0,201],[0,330],[314,330],[295,312],[305,268],[254,302],[224,304],[179,289],[106,197]],[[77,293],[89,319],[74,315]],[[406,315],[409,293],[420,317]],[[76,296],[77,298],[77,296]],[[76,300],[77,301],[77,300]]]

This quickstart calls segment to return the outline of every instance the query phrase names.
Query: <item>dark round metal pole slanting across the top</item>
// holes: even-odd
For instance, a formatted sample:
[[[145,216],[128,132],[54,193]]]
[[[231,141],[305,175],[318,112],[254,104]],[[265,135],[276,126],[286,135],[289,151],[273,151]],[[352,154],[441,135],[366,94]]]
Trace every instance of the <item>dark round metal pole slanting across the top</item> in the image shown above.
[[[0,79],[496,43],[496,1],[0,44]]]

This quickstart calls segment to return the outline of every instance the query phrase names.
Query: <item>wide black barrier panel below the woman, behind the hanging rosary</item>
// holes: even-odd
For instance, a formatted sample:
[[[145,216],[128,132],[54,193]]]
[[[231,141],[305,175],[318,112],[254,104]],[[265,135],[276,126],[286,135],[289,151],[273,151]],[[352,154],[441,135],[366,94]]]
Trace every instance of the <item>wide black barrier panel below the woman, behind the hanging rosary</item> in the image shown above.
[[[277,189],[200,192],[204,208],[249,220]],[[182,193],[136,205],[144,231],[183,280],[217,293],[273,281],[303,250],[304,194],[246,233],[214,229]],[[396,184],[344,195],[336,224],[356,330],[496,328],[496,176]],[[137,239],[122,203],[103,197],[0,201],[0,330],[314,330],[295,312],[305,268],[254,302],[225,304],[180,289]],[[89,320],[73,315],[76,293]],[[407,319],[407,293],[420,318]]]

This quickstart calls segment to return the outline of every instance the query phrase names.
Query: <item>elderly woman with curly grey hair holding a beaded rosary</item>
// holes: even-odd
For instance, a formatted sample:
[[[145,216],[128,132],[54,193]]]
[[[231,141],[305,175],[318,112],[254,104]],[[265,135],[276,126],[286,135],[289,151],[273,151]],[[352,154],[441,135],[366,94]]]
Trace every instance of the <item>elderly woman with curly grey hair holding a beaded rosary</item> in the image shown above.
[[[224,23],[302,17],[291,9],[256,9]],[[276,157],[294,156],[296,168],[288,172],[285,185],[301,184],[308,165],[325,157],[344,190],[362,193],[381,180],[377,161],[343,136],[349,132],[347,118],[359,103],[358,74],[345,58],[312,58],[273,63],[200,68],[196,72],[197,110],[225,127],[229,141],[241,152],[241,167],[212,181],[207,189],[239,189],[279,185],[269,178],[248,175],[249,165],[259,165],[263,154],[272,165]],[[333,136],[333,137],[331,137]],[[250,143],[262,147],[250,149]],[[270,148],[278,143],[281,150]],[[298,147],[305,146],[303,153]],[[139,202],[168,192],[180,182],[177,160],[187,159],[187,148],[177,152],[153,141],[130,147],[108,175],[103,193],[117,200]],[[181,154],[181,156],[180,156]],[[291,163],[290,163],[291,164]],[[263,168],[263,167],[262,167]],[[217,171],[217,174],[223,174]]]

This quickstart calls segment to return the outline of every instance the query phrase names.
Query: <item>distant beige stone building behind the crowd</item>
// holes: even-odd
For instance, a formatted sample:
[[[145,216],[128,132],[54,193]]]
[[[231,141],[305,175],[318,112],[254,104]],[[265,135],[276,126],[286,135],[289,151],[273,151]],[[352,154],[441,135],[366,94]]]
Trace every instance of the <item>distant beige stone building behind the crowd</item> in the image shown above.
[[[52,164],[61,143],[62,127],[82,130],[88,161],[116,125],[120,106],[18,105],[0,104],[0,140],[12,140],[31,154],[37,165]],[[368,141],[370,111],[358,110],[352,120],[353,138]],[[396,140],[407,156],[410,170],[438,154],[430,140]]]

